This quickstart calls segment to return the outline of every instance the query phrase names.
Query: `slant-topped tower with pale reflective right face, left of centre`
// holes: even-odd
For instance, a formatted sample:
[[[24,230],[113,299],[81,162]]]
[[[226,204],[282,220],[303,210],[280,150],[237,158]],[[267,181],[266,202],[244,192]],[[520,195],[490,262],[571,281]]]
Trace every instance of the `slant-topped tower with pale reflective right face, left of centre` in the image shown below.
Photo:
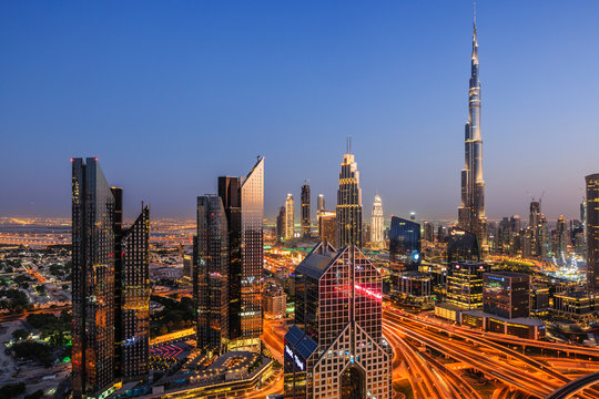
[[[245,177],[219,177],[229,231],[229,349],[260,350],[264,157]]]

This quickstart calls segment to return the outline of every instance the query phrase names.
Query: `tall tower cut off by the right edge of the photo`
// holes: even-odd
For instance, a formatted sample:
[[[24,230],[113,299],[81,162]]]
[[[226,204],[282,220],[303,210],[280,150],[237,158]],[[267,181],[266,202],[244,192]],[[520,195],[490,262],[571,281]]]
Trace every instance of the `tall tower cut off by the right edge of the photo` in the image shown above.
[[[586,183],[587,284],[589,293],[597,293],[599,291],[599,173],[588,175]]]

